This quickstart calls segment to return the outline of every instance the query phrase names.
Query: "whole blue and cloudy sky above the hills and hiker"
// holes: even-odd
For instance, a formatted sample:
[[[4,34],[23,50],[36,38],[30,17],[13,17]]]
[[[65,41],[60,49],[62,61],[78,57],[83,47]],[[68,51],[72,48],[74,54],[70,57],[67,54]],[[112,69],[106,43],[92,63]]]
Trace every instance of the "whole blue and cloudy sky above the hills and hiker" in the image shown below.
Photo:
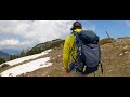
[[[65,39],[75,20],[0,20],[0,50],[23,50],[54,39]],[[130,20],[79,20],[100,39],[130,37]]]

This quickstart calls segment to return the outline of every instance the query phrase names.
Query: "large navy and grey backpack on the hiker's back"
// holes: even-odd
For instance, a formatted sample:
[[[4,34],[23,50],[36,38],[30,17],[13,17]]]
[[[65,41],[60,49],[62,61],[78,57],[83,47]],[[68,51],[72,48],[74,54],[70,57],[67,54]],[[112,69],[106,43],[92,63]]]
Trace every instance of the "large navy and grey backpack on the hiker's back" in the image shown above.
[[[91,30],[82,30],[80,33],[72,33],[76,38],[74,45],[77,45],[76,59],[73,57],[75,60],[73,64],[76,68],[76,71],[79,71],[83,74],[89,74],[96,71],[99,65],[101,64],[101,50],[100,45],[98,44],[100,38]]]

